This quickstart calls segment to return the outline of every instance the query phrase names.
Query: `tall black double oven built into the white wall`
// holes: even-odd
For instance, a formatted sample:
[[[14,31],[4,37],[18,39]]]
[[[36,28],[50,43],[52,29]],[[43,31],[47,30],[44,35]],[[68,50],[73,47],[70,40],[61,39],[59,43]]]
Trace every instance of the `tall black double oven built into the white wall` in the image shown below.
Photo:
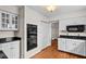
[[[37,47],[37,25],[27,24],[27,51]]]

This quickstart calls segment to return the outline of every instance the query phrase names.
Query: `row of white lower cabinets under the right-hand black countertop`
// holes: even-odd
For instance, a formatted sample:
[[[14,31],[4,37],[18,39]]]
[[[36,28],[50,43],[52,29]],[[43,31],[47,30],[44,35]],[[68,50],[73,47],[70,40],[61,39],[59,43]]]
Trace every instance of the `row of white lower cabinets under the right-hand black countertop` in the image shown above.
[[[86,41],[85,40],[59,38],[58,47],[59,47],[58,48],[59,50],[86,56]]]

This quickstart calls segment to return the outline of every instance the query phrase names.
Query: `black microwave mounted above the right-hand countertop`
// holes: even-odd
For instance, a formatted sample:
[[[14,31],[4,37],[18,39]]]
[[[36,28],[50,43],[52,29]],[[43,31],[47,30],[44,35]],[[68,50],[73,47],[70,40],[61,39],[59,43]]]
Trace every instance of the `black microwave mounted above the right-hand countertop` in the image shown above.
[[[85,25],[69,25],[66,26],[66,30],[72,33],[83,33],[85,30]]]

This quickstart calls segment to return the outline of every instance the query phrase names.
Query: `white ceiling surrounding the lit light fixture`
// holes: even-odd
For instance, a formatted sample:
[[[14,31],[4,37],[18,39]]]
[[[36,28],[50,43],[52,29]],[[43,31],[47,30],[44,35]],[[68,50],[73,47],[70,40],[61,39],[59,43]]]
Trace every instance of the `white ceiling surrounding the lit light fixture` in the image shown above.
[[[52,17],[62,13],[67,13],[67,12],[70,13],[73,11],[86,9],[86,5],[56,5],[57,7],[56,11],[51,13],[46,10],[47,5],[28,5],[28,7],[47,17]]]

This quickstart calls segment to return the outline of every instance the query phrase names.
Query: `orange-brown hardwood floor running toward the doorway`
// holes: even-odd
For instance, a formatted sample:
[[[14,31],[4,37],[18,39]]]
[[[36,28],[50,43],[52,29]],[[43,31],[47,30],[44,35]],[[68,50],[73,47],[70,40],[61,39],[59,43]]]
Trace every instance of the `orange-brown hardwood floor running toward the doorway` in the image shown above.
[[[59,51],[57,40],[52,40],[50,47],[37,53],[35,56],[33,56],[33,59],[85,59],[85,57]]]

